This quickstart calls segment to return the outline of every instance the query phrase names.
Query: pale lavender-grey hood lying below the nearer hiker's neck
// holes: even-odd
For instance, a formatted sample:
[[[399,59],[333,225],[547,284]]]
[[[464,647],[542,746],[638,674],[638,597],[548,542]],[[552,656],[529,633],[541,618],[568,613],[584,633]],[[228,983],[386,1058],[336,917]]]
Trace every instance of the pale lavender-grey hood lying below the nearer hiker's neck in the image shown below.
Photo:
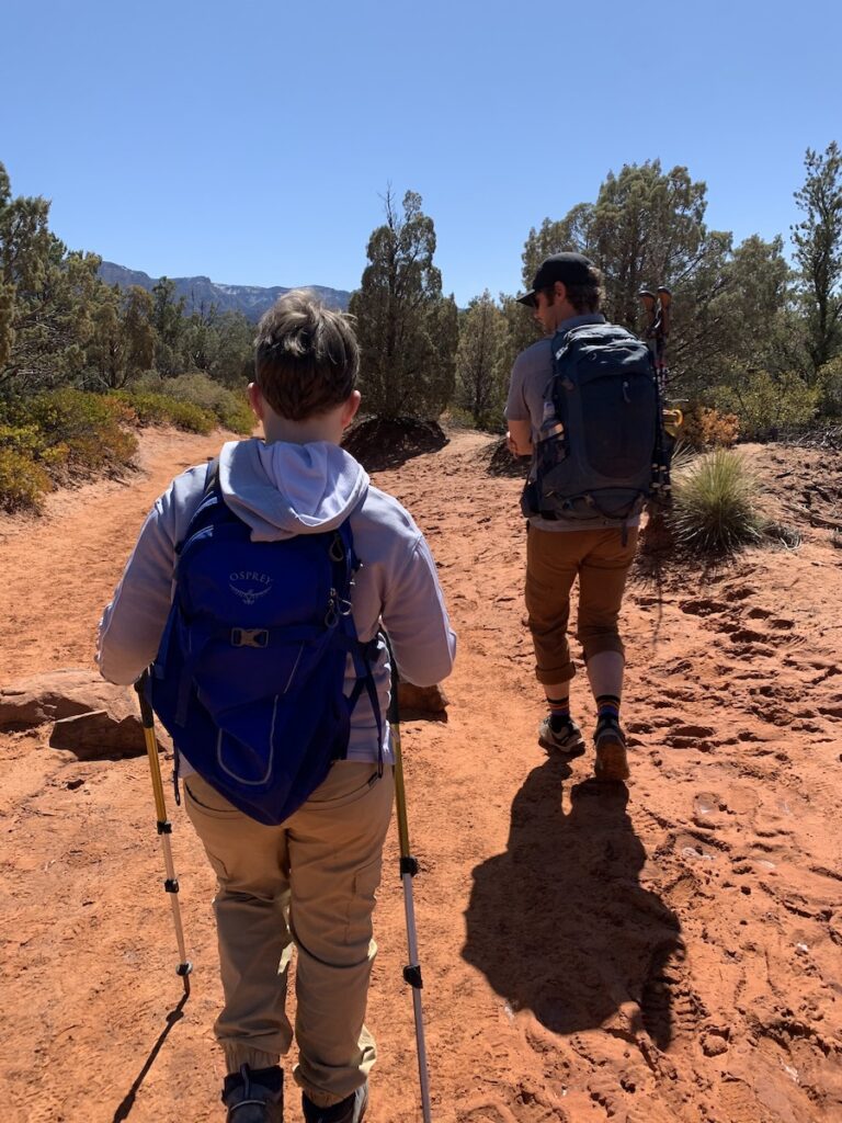
[[[335,530],[365,499],[368,476],[330,441],[232,440],[219,455],[222,496],[253,541]]]

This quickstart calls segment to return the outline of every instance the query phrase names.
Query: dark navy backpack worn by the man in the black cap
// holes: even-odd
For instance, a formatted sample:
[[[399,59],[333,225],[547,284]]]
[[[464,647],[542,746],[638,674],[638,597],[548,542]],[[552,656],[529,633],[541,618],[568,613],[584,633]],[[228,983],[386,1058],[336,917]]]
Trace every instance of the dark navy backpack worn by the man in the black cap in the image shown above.
[[[586,323],[552,338],[552,377],[523,513],[583,529],[625,522],[669,490],[669,449],[652,357],[613,323]]]

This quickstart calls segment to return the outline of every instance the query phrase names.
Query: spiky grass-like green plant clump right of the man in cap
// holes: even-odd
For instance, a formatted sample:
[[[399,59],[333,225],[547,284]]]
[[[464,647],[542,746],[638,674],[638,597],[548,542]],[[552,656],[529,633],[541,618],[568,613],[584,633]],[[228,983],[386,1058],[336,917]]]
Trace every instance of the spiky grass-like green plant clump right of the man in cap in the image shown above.
[[[717,448],[672,474],[670,523],[679,546],[696,554],[732,554],[757,542],[763,520],[756,478],[736,453]]]

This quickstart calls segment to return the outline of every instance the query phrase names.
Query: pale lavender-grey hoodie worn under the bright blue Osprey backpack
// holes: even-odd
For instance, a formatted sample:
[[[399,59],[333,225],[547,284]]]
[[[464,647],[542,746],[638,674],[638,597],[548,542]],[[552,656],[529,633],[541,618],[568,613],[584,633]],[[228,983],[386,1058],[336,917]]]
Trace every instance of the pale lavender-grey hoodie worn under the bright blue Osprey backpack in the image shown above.
[[[176,476],[143,526],[100,621],[97,661],[112,683],[132,683],[155,658],[170,612],[176,546],[185,537],[205,478],[204,464]],[[254,541],[332,530],[350,518],[354,548],[363,563],[351,593],[360,640],[372,639],[382,621],[402,678],[431,686],[450,673],[456,637],[432,555],[409,513],[370,486],[354,457],[328,441],[230,441],[220,454],[219,483],[228,506],[251,528]],[[384,757],[391,763],[388,678],[382,651],[375,682],[384,715]],[[349,659],[346,694],[353,683]],[[377,759],[376,728],[364,692],[351,714],[349,760]]]

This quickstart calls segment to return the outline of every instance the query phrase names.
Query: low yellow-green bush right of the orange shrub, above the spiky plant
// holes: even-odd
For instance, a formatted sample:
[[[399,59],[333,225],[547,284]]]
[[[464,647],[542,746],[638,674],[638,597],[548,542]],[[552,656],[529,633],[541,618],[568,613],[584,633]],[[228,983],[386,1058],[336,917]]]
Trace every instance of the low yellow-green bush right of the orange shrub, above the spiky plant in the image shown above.
[[[714,391],[716,408],[735,413],[740,432],[749,440],[804,429],[815,418],[821,398],[818,385],[808,385],[794,372],[774,376],[758,371],[747,375],[740,385],[717,386]]]

